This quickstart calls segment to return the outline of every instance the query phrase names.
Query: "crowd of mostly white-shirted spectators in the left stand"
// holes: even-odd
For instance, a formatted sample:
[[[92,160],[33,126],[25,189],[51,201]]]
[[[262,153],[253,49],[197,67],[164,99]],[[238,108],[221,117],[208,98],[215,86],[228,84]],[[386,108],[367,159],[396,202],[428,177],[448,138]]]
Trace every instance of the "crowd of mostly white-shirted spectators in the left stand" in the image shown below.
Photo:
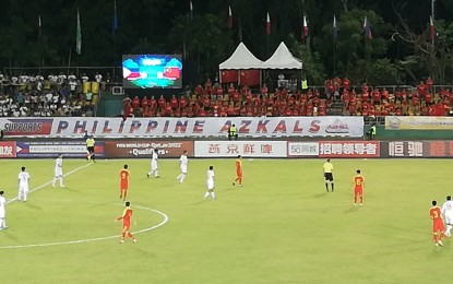
[[[0,73],[0,117],[94,116],[99,83],[85,74],[5,75]]]

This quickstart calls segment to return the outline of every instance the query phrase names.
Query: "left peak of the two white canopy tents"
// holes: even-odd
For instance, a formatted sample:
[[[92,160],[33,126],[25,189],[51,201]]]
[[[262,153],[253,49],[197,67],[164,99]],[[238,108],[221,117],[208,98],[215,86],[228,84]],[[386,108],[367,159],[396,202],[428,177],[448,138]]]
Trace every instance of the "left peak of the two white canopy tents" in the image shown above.
[[[243,70],[243,69],[263,69],[263,61],[254,57],[252,52],[240,43],[235,52],[222,62],[218,68],[220,70]]]

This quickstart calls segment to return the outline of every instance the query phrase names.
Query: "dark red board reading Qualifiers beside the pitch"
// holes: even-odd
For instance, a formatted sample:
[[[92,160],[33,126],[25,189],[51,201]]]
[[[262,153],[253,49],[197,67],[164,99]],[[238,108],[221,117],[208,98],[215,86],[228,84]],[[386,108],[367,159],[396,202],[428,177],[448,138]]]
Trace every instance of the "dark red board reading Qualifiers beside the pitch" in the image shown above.
[[[188,156],[193,156],[193,141],[153,141],[143,140],[106,141],[106,157],[147,157],[154,149],[160,157],[179,157],[187,151]]]

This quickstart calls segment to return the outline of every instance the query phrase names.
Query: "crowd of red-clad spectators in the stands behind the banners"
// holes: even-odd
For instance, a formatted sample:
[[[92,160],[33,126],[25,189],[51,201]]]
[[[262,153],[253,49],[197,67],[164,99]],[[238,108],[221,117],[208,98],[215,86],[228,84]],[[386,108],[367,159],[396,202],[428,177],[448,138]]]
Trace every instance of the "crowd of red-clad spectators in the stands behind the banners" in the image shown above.
[[[386,90],[370,87],[366,83],[354,86],[345,78],[326,80],[324,86],[301,91],[276,88],[270,92],[230,84],[224,88],[210,80],[186,95],[144,96],[123,100],[123,116],[138,117],[272,117],[272,116],[326,116],[339,105],[345,116],[444,116],[451,109],[453,93],[434,92],[432,80],[415,88]]]

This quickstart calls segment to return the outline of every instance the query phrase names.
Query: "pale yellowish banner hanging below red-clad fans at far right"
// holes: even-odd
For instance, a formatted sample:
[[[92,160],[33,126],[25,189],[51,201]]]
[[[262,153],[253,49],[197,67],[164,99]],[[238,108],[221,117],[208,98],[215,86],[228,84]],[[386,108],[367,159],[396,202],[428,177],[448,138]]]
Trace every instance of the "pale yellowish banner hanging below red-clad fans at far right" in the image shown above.
[[[390,130],[453,130],[453,117],[385,117]]]

